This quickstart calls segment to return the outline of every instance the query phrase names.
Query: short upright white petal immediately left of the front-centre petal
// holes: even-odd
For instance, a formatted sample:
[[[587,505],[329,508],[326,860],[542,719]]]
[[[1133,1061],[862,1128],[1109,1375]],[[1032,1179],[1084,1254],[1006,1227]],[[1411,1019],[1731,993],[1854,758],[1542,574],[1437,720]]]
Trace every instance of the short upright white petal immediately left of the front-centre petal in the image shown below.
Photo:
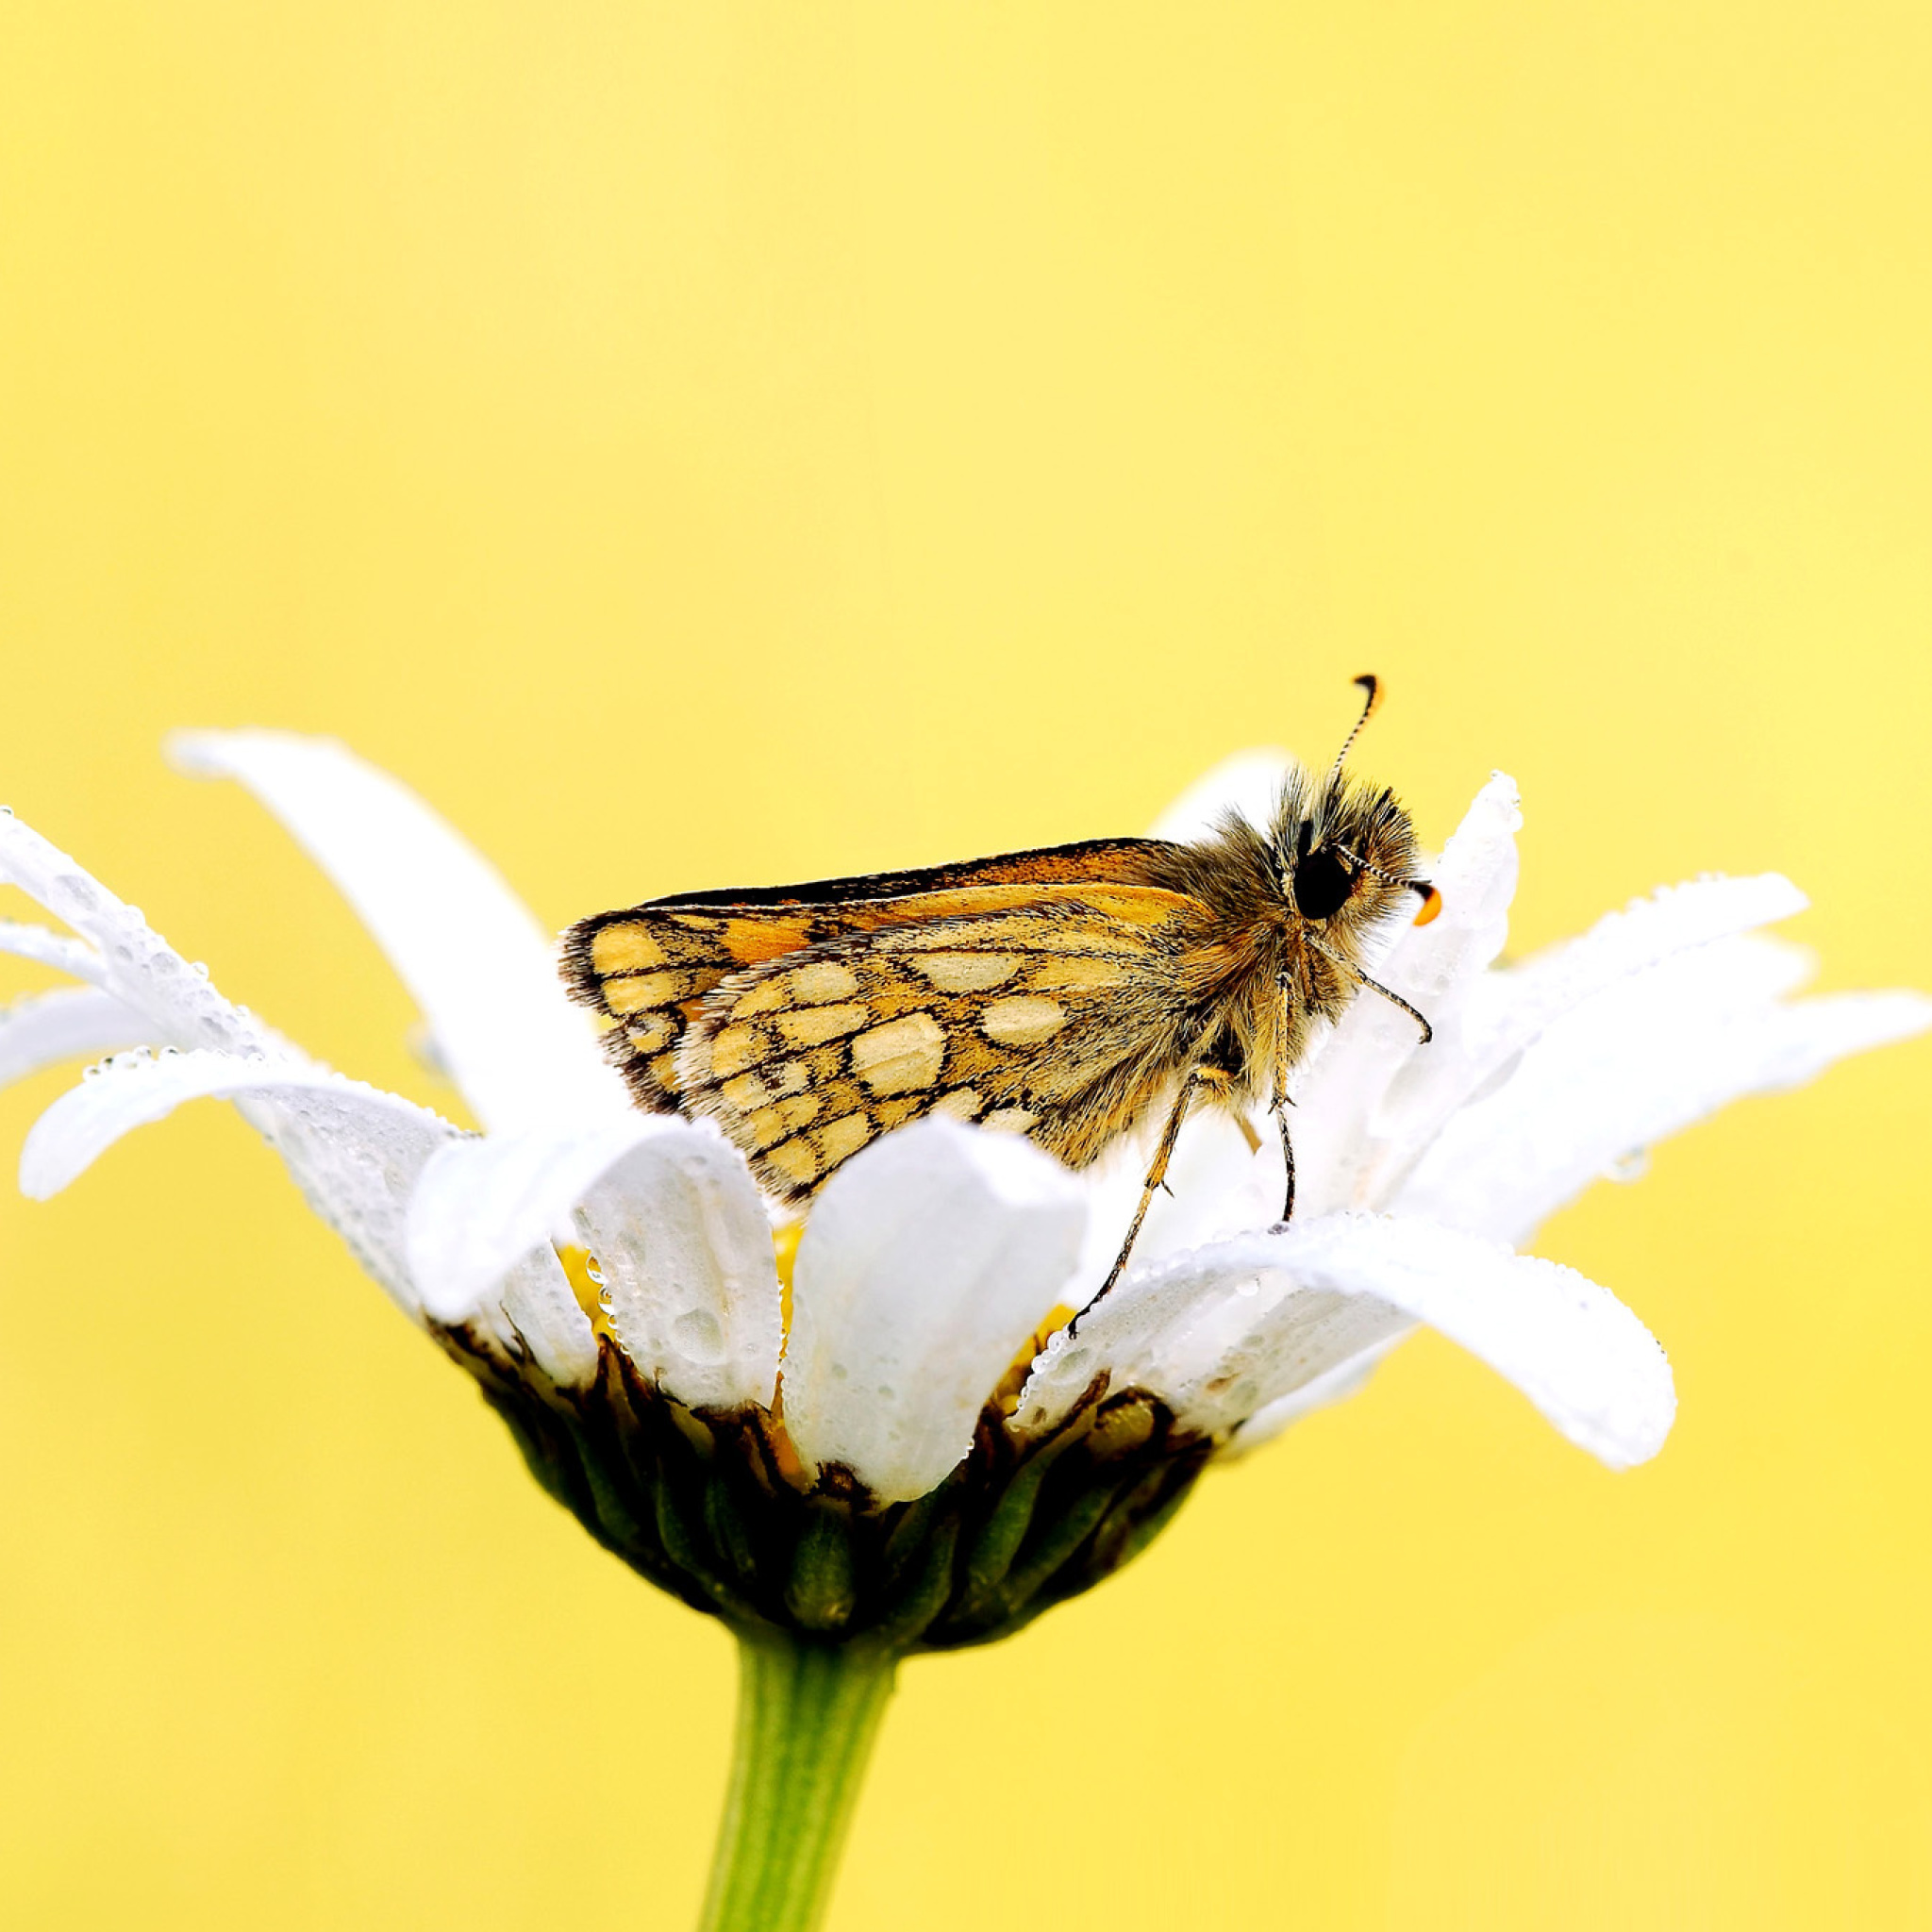
[[[583,1194],[578,1240],[624,1354],[692,1408],[769,1408],[784,1333],[771,1221],[709,1126],[657,1122]]]

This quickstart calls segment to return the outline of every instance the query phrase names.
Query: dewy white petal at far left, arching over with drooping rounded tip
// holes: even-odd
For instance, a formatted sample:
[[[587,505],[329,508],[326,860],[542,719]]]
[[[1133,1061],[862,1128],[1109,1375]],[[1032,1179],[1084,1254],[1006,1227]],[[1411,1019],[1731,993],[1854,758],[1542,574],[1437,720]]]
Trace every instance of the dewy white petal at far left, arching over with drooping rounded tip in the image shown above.
[[[110,1061],[35,1121],[19,1157],[21,1192],[58,1194],[124,1134],[203,1097],[272,1107],[263,1134],[309,1206],[413,1312],[404,1213],[423,1163],[456,1128],[394,1094],[301,1061],[228,1053]]]

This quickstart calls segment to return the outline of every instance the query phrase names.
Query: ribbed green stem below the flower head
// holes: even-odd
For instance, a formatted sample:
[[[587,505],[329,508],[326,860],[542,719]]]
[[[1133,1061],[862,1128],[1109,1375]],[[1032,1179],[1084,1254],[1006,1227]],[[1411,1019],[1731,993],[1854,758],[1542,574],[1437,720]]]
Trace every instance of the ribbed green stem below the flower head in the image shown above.
[[[811,1932],[893,1694],[895,1652],[738,1638],[738,1737],[699,1932]]]

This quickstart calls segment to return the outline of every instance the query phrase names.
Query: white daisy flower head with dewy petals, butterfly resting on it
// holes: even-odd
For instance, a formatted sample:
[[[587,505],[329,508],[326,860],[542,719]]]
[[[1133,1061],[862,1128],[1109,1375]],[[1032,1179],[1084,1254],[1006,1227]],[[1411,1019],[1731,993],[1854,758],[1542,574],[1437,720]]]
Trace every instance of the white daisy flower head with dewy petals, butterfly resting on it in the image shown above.
[[[634,1532],[649,1544],[626,1548],[643,1569],[684,1561],[686,1530],[665,1520],[682,1507],[665,1501],[676,1486],[655,1503],[643,1492],[636,1507],[612,1501],[609,1470],[583,1474],[603,1451],[560,1447],[545,1416],[589,1430],[595,1403],[626,1414],[668,1403],[707,1466],[715,1430],[742,1418],[765,1443],[753,1464],[765,1468],[765,1455],[792,1493],[817,1472],[819,1495],[854,1495],[862,1511],[925,1497],[972,1464],[968,1451],[1009,1482],[1030,1457],[1051,1461],[1041,1445],[1086,1432],[1080,1453],[1111,1470],[1111,1488],[1092,1492],[1105,1490],[1094,1520],[1080,1515],[1086,1501],[1063,1497],[1053,1534],[1022,1513],[1010,1536],[1014,1549],[1032,1538],[1037,1569],[1053,1536],[1084,1524],[1082,1548],[1109,1551],[1095,1573],[1151,1534],[1209,1449],[1252,1447],[1349,1393],[1418,1321],[1490,1362],[1602,1461],[1642,1461],[1675,1410],[1663,1352],[1605,1289],[1511,1244],[1662,1134],[1932,1024],[1932,1003],[1911,993],[1791,1001],[1804,956],[1752,931],[1803,906],[1777,877],[1675,887],[1497,966],[1519,813],[1509,781],[1492,779],[1435,869],[1441,916],[1405,929],[1374,968],[1428,1014],[1434,1043],[1368,993],[1318,1041],[1291,1115],[1291,1227],[1275,1225],[1273,1136],[1250,1151],[1223,1117],[1192,1121],[1175,1198],[1150,1215],[1134,1265],[1072,1335],[1051,1337],[1012,1401],[1007,1372],[1028,1339],[1057,1306],[1092,1298],[1142,1150],[1076,1177],[1020,1140],[949,1121],[887,1136],[813,1206],[786,1331],[771,1217],[744,1161],[709,1126],[628,1107],[562,995],[547,935],[456,833],[336,744],[228,732],[184,738],[178,755],[247,784],[330,873],[410,985],[485,1134],[317,1065],[6,817],[0,877],[71,937],[10,925],[0,949],[81,985],[10,1009],[0,1078],[137,1049],[91,1068],[41,1117],[21,1186],[52,1194],[129,1128],[187,1099],[232,1099],[363,1267],[469,1360],[526,1447],[531,1430],[551,1445],[531,1453],[553,1488],[612,1546]],[[1277,773],[1265,755],[1231,761],[1159,829],[1184,837]],[[576,1264],[574,1279],[582,1254],[595,1262]],[[999,1422],[989,1403],[1003,1378],[1012,1412]],[[1130,1455],[1144,1457],[1132,1482],[1119,1461]],[[1157,1457],[1186,1463],[1167,1488]],[[773,1488],[769,1468],[759,1480]],[[1109,1528],[1105,1513],[1128,1511],[1128,1497],[1132,1511]],[[732,1594],[740,1586],[767,1588],[752,1557],[738,1563],[723,1520],[734,1507],[703,1503],[707,1548],[730,1557],[715,1565],[724,1580],[705,1571],[701,1588],[676,1582],[726,1613],[750,1602]],[[1014,1515],[1009,1492],[962,1519],[980,1569],[951,1602],[980,1605],[976,1629],[995,1619],[1001,1588],[1009,1609],[1018,1602],[999,1549],[985,1555],[1009,1534],[999,1509]],[[653,1511],[657,1526],[638,1528]],[[794,1602],[804,1586],[786,1588]],[[833,1598],[825,1584],[813,1602]],[[798,1615],[823,1627],[844,1611]]]

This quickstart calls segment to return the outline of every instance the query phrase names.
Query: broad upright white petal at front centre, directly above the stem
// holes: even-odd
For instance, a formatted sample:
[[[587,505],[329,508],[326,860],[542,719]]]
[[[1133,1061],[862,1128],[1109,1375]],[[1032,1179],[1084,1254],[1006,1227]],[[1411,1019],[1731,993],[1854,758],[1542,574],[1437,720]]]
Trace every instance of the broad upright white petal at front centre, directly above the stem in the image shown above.
[[[792,1277],[784,1422],[806,1464],[840,1463],[883,1501],[939,1484],[1059,1300],[1084,1219],[1057,1161],[952,1121],[840,1167]]]

